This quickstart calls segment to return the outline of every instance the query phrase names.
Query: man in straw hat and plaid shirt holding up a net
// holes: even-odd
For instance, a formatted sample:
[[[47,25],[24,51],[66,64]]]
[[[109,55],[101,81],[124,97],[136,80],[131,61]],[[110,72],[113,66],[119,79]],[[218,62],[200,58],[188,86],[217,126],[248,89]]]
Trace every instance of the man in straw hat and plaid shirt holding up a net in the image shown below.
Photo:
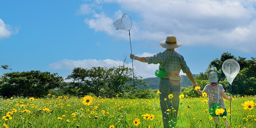
[[[147,62],[148,64],[159,63],[159,69],[165,71],[165,76],[160,79],[159,94],[160,106],[162,111],[163,126],[169,128],[173,123],[173,119],[177,117],[179,104],[180,104],[180,91],[181,91],[181,76],[180,71],[186,73],[188,78],[192,81],[193,86],[198,86],[194,80],[190,69],[188,68],[183,56],[174,51],[174,48],[180,47],[181,42],[176,41],[176,37],[173,35],[167,36],[166,40],[160,42],[163,48],[166,48],[164,52],[160,52],[149,57],[138,57],[130,54],[130,58],[139,60],[141,62]],[[172,94],[173,97],[168,96]],[[171,99],[170,99],[171,98]],[[172,109],[173,108],[173,109]],[[169,124],[170,123],[170,124]]]

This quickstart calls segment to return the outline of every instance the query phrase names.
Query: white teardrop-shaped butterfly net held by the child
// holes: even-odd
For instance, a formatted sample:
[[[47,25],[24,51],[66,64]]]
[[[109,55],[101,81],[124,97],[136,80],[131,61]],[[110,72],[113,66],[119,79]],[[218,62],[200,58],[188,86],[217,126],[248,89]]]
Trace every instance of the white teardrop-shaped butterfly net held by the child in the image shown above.
[[[222,71],[225,74],[229,84],[232,85],[233,80],[240,71],[239,63],[234,59],[227,59],[222,64]]]

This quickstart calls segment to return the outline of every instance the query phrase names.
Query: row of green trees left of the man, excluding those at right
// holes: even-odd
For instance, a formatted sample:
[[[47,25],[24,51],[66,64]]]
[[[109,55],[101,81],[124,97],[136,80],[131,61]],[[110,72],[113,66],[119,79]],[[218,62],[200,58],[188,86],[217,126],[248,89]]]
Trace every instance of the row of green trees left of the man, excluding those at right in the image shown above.
[[[6,67],[6,66],[5,66]],[[6,67],[8,69],[8,67]],[[106,68],[92,67],[91,69],[74,68],[66,79],[58,73],[27,71],[4,73],[0,77],[0,96],[3,97],[44,97],[49,92],[72,96],[85,96],[89,93],[95,96],[115,97],[127,93],[134,86],[146,86],[142,77],[133,75],[132,69],[123,66]],[[72,82],[65,82],[72,80]]]

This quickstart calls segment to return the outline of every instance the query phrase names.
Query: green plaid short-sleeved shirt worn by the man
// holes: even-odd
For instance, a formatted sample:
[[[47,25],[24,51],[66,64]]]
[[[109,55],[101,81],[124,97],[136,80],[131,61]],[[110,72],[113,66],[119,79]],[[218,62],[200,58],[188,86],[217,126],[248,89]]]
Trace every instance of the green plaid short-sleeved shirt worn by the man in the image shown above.
[[[157,64],[159,63],[159,69],[165,70],[165,77],[170,80],[181,80],[180,71],[186,73],[190,69],[188,68],[183,56],[174,51],[174,49],[166,49],[164,52],[160,52],[150,57],[146,57],[147,63]]]

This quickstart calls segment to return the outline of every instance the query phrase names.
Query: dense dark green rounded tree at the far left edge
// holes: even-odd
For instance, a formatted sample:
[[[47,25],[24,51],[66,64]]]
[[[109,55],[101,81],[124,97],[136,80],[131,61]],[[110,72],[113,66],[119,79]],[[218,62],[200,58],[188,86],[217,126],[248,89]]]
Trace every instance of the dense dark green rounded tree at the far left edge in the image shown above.
[[[0,77],[0,95],[4,97],[43,97],[50,89],[61,87],[64,79],[57,73],[28,71],[4,73]]]

